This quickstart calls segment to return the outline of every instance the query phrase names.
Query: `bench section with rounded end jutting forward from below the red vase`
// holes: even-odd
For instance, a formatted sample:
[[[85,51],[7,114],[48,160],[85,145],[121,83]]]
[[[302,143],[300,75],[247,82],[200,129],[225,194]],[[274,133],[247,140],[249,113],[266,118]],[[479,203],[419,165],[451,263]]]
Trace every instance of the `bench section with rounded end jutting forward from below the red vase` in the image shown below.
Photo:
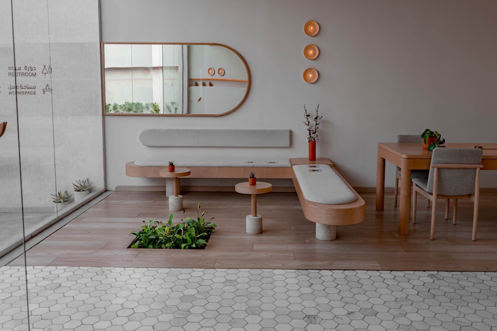
[[[337,225],[360,223],[365,202],[332,165],[290,159],[292,180],[304,216],[316,223],[316,238],[336,239]],[[302,164],[304,163],[304,164]]]

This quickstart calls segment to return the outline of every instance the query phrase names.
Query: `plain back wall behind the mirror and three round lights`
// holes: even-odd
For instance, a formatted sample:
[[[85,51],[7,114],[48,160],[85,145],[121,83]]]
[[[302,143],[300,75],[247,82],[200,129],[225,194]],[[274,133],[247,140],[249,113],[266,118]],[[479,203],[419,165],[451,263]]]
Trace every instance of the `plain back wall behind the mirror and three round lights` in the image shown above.
[[[126,177],[125,163],[162,156],[307,153],[303,105],[320,104],[318,156],[355,187],[376,185],[377,143],[441,132],[448,142],[497,141],[497,1],[494,0],[101,0],[104,42],[212,42],[247,61],[251,87],[235,112],[215,118],[107,116],[107,188],[162,184]],[[304,34],[316,20],[316,37]],[[307,60],[304,47],[320,48]],[[303,71],[319,80],[307,84]],[[292,130],[284,149],[151,148],[145,128]],[[389,171],[391,176],[389,176]],[[394,170],[387,167],[387,186]],[[483,187],[497,187],[484,172]]]

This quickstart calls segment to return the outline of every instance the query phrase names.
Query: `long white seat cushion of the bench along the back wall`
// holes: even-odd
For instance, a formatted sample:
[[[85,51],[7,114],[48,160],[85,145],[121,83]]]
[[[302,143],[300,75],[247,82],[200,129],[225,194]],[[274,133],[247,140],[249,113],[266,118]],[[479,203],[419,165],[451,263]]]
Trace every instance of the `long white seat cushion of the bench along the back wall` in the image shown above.
[[[174,161],[178,167],[291,167],[289,159],[254,159],[254,158],[206,158],[182,157],[167,159],[143,159],[135,161],[138,166],[166,167],[168,161]]]

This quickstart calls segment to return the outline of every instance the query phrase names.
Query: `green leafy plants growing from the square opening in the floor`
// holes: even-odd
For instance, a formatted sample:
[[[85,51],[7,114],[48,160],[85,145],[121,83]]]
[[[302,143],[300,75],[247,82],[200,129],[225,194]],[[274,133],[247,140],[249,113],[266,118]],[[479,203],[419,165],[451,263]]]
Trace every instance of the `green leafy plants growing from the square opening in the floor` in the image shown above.
[[[199,210],[200,203],[197,204],[197,218],[188,217],[179,224],[172,224],[173,213],[169,215],[167,224],[149,220],[142,230],[131,233],[135,239],[130,248],[204,249],[216,224],[211,222],[214,217],[206,222],[205,211],[199,215]]]

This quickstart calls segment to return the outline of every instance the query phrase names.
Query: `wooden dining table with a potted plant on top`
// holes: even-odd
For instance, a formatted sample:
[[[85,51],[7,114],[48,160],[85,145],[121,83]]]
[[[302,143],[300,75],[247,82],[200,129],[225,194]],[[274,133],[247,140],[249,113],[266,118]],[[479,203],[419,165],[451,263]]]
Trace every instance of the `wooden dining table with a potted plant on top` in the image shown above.
[[[445,147],[483,147],[482,170],[497,170],[497,143],[445,143]],[[409,235],[411,213],[411,170],[429,169],[432,152],[421,142],[380,142],[376,168],[376,210],[383,210],[385,201],[385,160],[401,168],[399,235]]]

